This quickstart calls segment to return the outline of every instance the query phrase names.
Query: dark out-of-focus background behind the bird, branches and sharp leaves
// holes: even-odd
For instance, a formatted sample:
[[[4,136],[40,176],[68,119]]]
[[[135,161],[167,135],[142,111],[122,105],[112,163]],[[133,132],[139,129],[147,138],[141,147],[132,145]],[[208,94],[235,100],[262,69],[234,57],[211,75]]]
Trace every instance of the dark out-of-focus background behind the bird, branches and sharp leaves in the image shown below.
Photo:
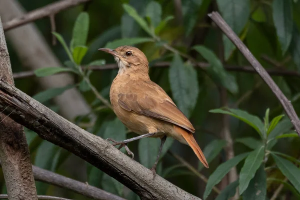
[[[55,0],[12,1],[18,2],[26,11],[55,2]],[[149,31],[135,21],[132,12],[130,10],[128,12],[129,8],[126,8],[124,3],[133,7],[149,24]],[[73,37],[73,28],[78,15],[83,11],[88,14],[89,26],[85,44],[87,51],[78,64],[90,66],[89,69],[92,70],[88,74],[89,80],[106,99],[109,99],[109,87],[117,73],[117,68],[111,55],[98,52],[97,49],[129,44],[140,48],[145,53],[150,63],[151,80],[158,83],[189,117],[196,129],[194,136],[209,160],[209,169],[206,169],[188,146],[167,139],[157,173],[201,198],[207,180],[201,179],[199,173],[208,178],[220,163],[234,155],[250,151],[249,143],[261,140],[259,134],[250,125],[229,115],[211,113],[209,110],[224,106],[237,108],[256,115],[261,121],[265,117],[267,108],[269,108],[270,119],[284,114],[281,104],[269,87],[207,16],[207,13],[214,10],[221,13],[263,67],[268,69],[273,80],[292,101],[296,112],[300,113],[300,73],[298,72],[300,70],[300,2],[298,0],[91,0],[55,14],[55,31],[63,37],[67,45],[70,45]],[[7,13],[3,7],[0,8],[3,22],[5,22],[3,19],[5,14]],[[45,44],[57,57],[57,63],[60,63],[57,66],[67,67],[66,61],[69,57],[65,49],[58,40],[55,45],[52,44],[53,29],[49,17],[38,19],[34,24],[46,41]],[[31,44],[23,42],[16,48],[12,31],[17,29],[6,31],[5,34],[7,33],[6,40],[13,73],[16,75],[18,72],[36,69],[38,66],[35,68],[30,66],[32,62],[20,53],[27,48],[30,49]],[[154,34],[151,35],[153,32]],[[19,34],[21,35],[21,32]],[[34,53],[31,56],[35,59],[43,59],[43,56],[39,55],[38,47],[32,52]],[[47,63],[47,60],[43,62]],[[39,67],[45,66],[49,65]],[[59,76],[54,76],[62,79],[67,76],[66,79],[69,78],[75,85],[73,87],[65,87],[67,84],[59,87],[47,86],[46,81],[53,80],[44,79],[41,83],[44,77],[35,75],[15,76],[14,81],[17,88],[93,134],[116,140],[136,136],[135,133],[126,130],[115,118],[112,110],[96,98],[88,85],[84,85],[80,75],[61,73]],[[50,88],[56,90],[49,90]],[[73,112],[77,109],[74,103],[73,107],[62,111],[63,105],[72,101],[72,96],[66,95],[70,88],[75,89],[78,95],[82,96],[80,101],[84,104],[84,106],[80,105],[80,110],[75,114],[67,113],[68,110]],[[64,95],[65,101],[62,100],[59,104],[57,96],[61,95]],[[281,120],[285,118],[286,116],[283,116]],[[280,133],[292,130],[293,128],[288,126]],[[25,131],[34,165],[88,182],[90,185],[127,199],[139,199],[132,191],[82,159],[42,140],[36,133],[26,128]],[[282,138],[278,139],[272,149],[298,159],[299,144],[298,137]],[[128,146],[134,152],[137,161],[150,167],[154,163],[159,140],[146,138],[131,142]],[[273,163],[270,158],[266,166],[271,166]],[[233,174],[233,179],[234,174],[238,174],[242,166],[243,161],[236,165],[235,172],[229,172]],[[267,177],[284,178],[276,169],[266,170],[266,173]],[[227,174],[215,186],[222,190],[233,179]],[[279,183],[267,181],[267,198],[271,198]],[[88,199],[46,183],[36,182],[36,187],[38,194]],[[2,173],[0,173],[0,189],[5,193]],[[215,199],[217,194],[214,190],[211,191],[208,199]],[[297,196],[284,186],[278,194],[278,199],[298,199]]]

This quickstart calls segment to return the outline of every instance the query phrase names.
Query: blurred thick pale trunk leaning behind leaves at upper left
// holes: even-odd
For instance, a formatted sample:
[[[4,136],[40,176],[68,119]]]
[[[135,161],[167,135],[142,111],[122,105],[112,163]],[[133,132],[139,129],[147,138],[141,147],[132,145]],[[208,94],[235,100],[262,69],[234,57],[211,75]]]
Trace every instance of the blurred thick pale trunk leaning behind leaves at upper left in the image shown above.
[[[71,5],[71,2],[79,1],[82,2],[83,0],[63,0],[57,3],[66,4],[65,2],[69,2],[68,5]],[[66,6],[63,8],[66,8]],[[55,11],[55,9],[51,11],[53,10]],[[23,8],[17,0],[0,0],[0,14],[3,22],[15,17],[26,17],[27,15],[24,13]],[[38,13],[40,13],[40,11],[38,11]],[[32,14],[29,14],[29,16],[31,15]],[[36,17],[34,17],[34,19],[36,19]],[[11,41],[22,64],[31,70],[40,67],[62,66],[34,24],[26,24],[14,28],[5,32],[5,34]],[[69,74],[57,74],[38,78],[37,81],[44,89],[47,89],[71,84],[73,78]],[[68,119],[74,119],[78,115],[90,113],[90,107],[75,88],[68,89],[61,95],[56,96],[54,102],[59,106],[60,113]],[[74,107],[76,107],[76,109],[74,109]]]

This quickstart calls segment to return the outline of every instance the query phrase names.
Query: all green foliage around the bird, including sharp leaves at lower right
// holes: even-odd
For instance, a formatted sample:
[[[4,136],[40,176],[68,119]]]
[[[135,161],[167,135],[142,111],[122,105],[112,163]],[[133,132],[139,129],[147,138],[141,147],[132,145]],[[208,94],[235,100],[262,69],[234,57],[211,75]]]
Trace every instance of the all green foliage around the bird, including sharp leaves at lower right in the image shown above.
[[[45,1],[50,3],[50,0]],[[212,8],[219,10],[263,67],[276,72],[272,78],[300,113],[300,82],[295,73],[300,69],[300,1],[181,0],[181,5],[166,0],[123,2],[126,3],[92,1],[84,6],[85,11],[80,11],[82,6],[56,15],[59,33],[52,34],[61,45],[52,46],[52,50],[64,64],[39,68],[34,74],[44,77],[69,73],[74,77],[73,84],[42,90],[28,78],[16,80],[16,86],[56,112],[59,108],[51,99],[76,87],[92,107],[92,114],[76,117],[76,124],[103,138],[123,140],[136,136],[97,98],[99,95],[109,98],[110,84],[117,72],[111,64],[113,58],[98,53],[97,49],[137,46],[148,58],[151,80],[172,97],[195,127],[194,136],[209,163],[209,169],[204,168],[195,162],[196,157],[188,147],[167,138],[157,165],[159,175],[194,195],[202,195],[198,190],[204,190],[204,199],[208,195],[211,199],[228,199],[234,196],[236,188],[239,188],[240,198],[268,199],[281,183],[285,190],[292,192],[293,198],[299,198],[300,183],[294,178],[299,176],[298,135],[269,88],[259,83],[257,75],[245,73],[251,70],[249,63],[215,28],[207,13]],[[37,8],[33,0],[22,4]],[[37,22],[37,25],[48,39],[49,24]],[[22,64],[14,59],[15,52],[10,52],[10,56],[13,71],[22,70],[19,67]],[[34,56],[38,56],[38,52]],[[108,65],[104,65],[106,63]],[[282,75],[284,70],[288,70],[289,76]],[[230,115],[229,122],[223,114]],[[96,120],[91,115],[96,115]],[[228,122],[233,142],[223,134],[224,121]],[[80,172],[76,173],[82,175],[69,172],[69,163],[65,160],[77,166],[69,153],[43,141],[34,132],[25,131],[34,164],[75,179],[85,181],[87,178],[88,184],[126,199],[138,199],[120,182],[89,164],[78,166]],[[228,159],[231,145],[235,156]],[[128,147],[134,152],[134,159],[149,168],[156,159],[159,139],[144,138],[130,142]],[[125,153],[123,148],[120,150]],[[186,162],[192,163],[192,168],[175,160],[167,151],[180,154]],[[211,192],[232,167],[236,167],[238,179],[227,182],[218,194],[215,189]],[[203,176],[208,178],[205,189],[194,187],[191,178]],[[283,176],[288,182],[283,181]],[[2,186],[3,191],[4,188]],[[39,194],[52,194],[55,189],[37,183],[37,190]],[[285,190],[278,198],[284,198]],[[73,199],[82,198],[68,191],[64,193]]]

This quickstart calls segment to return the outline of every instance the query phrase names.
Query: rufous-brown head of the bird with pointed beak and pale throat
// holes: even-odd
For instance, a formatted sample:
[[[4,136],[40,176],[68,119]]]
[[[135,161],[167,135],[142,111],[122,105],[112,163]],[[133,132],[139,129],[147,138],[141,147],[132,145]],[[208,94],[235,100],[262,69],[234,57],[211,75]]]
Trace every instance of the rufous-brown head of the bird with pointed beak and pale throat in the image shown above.
[[[119,46],[115,49],[99,48],[114,56],[119,67],[118,73],[146,73],[148,74],[148,60],[145,54],[133,46]]]

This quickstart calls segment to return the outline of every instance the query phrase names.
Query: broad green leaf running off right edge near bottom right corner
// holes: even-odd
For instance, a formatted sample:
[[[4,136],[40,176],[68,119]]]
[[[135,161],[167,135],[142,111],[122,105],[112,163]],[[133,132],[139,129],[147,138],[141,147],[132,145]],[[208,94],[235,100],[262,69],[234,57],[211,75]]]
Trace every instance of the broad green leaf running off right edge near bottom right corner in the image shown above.
[[[292,162],[281,158],[275,154],[272,154],[276,165],[280,171],[287,177],[291,184],[300,192],[300,169],[296,167]]]

